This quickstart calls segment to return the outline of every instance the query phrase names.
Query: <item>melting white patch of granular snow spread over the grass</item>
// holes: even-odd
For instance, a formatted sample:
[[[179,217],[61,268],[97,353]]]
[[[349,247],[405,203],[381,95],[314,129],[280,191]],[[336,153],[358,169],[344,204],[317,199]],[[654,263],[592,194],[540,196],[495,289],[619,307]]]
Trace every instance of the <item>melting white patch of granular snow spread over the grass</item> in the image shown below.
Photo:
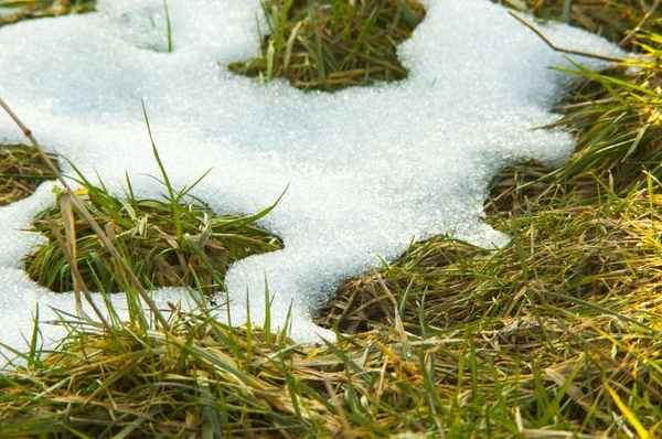
[[[89,178],[98,172],[118,194],[125,171],[139,196],[163,191],[146,176],[159,171],[141,98],[175,188],[213,167],[194,193],[217,214],[258,212],[289,184],[260,223],[285,249],[231,268],[231,310],[234,323],[245,322],[248,295],[261,323],[266,278],[273,326],[291,303],[293,338],[314,341],[330,334],[311,314],[339,282],[396,258],[413,238],[506,244],[480,220],[491,176],[527,159],[560,164],[573,149],[560,130],[534,129],[557,119],[549,108],[569,78],[547,67],[568,65],[560,54],[487,0],[426,4],[426,20],[399,49],[407,81],[330,95],[226,71],[258,54],[258,0],[169,0],[172,53],[161,0],[102,0],[98,13],[0,29],[0,96],[46,149]],[[565,25],[544,32],[560,46],[617,53]],[[1,140],[23,140],[3,115]],[[54,318],[49,307],[74,310],[71,293],[46,291],[21,269],[43,239],[21,229],[54,202],[52,184],[0,208],[0,342],[19,349],[35,304],[44,321]],[[121,295],[114,300],[122,307]],[[62,335],[42,331],[46,345]]]

